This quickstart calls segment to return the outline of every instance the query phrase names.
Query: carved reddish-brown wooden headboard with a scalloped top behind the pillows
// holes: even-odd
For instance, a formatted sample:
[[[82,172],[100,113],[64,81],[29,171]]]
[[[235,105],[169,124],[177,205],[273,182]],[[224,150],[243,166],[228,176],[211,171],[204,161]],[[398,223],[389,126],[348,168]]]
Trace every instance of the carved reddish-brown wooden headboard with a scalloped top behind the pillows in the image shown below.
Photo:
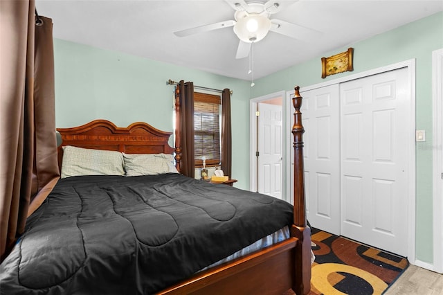
[[[62,136],[58,147],[59,168],[62,166],[64,145],[96,150],[116,150],[127,154],[173,154],[176,149],[168,143],[172,132],[164,132],[143,122],[128,127],[117,127],[108,120],[93,120],[90,123],[72,127],[57,128]],[[179,169],[179,159],[177,159]]]

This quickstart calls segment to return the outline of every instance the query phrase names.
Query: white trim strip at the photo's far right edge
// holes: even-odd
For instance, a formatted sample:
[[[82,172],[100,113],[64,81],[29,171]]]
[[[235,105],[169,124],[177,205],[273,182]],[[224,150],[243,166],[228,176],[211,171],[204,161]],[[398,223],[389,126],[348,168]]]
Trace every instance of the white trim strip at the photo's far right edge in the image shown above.
[[[443,273],[443,48],[432,53],[433,84],[433,270]]]

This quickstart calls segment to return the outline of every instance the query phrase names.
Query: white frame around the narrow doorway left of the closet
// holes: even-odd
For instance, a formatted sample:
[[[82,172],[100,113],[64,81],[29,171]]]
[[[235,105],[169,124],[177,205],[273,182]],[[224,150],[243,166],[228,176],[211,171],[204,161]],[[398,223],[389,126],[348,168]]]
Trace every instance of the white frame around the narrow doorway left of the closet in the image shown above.
[[[255,116],[255,112],[257,111],[257,104],[265,101],[270,100],[272,98],[282,98],[282,124],[284,122],[287,122],[287,120],[284,118],[284,108],[287,108],[287,103],[285,102],[285,91],[278,91],[271,94],[267,94],[266,96],[259,96],[257,98],[251,98],[249,100],[249,190],[252,192],[257,191],[257,157],[255,157],[255,152],[257,152],[257,116]],[[284,132],[285,129],[282,128],[282,132]],[[282,136],[282,146],[286,144],[284,142],[284,136]],[[283,161],[285,161],[285,155],[284,155],[284,148],[282,149],[282,157]],[[284,163],[284,162],[283,162]],[[286,186],[285,183],[285,172],[284,167],[282,167],[282,199],[285,201],[288,201],[286,199],[286,193],[284,192]]]

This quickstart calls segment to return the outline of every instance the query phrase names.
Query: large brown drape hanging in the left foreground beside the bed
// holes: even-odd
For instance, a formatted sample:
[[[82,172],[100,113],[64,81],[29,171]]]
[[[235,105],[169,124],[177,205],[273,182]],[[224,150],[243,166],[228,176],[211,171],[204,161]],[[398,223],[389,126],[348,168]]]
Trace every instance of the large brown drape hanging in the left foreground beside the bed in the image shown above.
[[[0,255],[57,182],[52,21],[33,0],[0,1]]]

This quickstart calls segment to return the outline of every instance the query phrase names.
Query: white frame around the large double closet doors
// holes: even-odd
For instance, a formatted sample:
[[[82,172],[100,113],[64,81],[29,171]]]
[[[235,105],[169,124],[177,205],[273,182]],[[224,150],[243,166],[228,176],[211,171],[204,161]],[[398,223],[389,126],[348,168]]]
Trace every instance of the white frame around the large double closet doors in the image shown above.
[[[408,71],[408,87],[410,89],[409,91],[409,97],[410,97],[410,106],[409,106],[409,110],[410,110],[410,114],[407,115],[408,118],[410,118],[410,122],[408,122],[406,128],[409,130],[409,134],[408,134],[408,145],[406,146],[407,150],[408,150],[408,163],[409,163],[409,167],[408,167],[408,179],[410,179],[410,181],[408,181],[408,220],[406,221],[406,224],[408,226],[408,229],[410,229],[408,231],[408,260],[409,262],[415,264],[415,199],[416,199],[416,194],[415,194],[415,175],[416,175],[416,167],[415,167],[415,59],[411,59],[411,60],[406,60],[404,62],[398,62],[395,64],[390,64],[388,66],[381,66],[377,69],[371,69],[368,71],[363,71],[361,73],[356,73],[353,75],[347,75],[343,78],[337,78],[334,80],[329,80],[329,81],[325,81],[325,82],[321,82],[318,84],[314,84],[308,87],[302,87],[300,88],[300,93],[302,95],[303,91],[309,91],[312,89],[316,89],[316,88],[320,88],[320,87],[325,87],[325,86],[329,86],[332,84],[339,84],[339,83],[343,83],[343,82],[348,82],[350,80],[355,80],[355,79],[359,79],[359,78],[365,78],[368,77],[370,75],[377,75],[379,73],[384,73],[387,71],[394,71],[397,69],[402,69],[402,68],[406,68]],[[303,95],[302,95],[303,96]],[[293,97],[293,91],[287,91],[287,99],[289,100],[291,97]],[[292,108],[291,107],[287,107],[287,121],[285,121],[285,125],[287,126],[286,132],[287,134],[290,134],[291,132],[291,127],[289,126],[291,124],[291,114],[292,113]],[[292,139],[291,139],[292,141]],[[291,146],[289,145],[289,143],[287,144],[287,154],[291,155]],[[291,159],[291,161],[287,161],[288,165],[290,167],[293,167],[293,159]],[[292,179],[293,179],[293,170],[291,169],[290,172],[291,175],[291,181],[287,181],[287,191],[291,192],[291,186],[293,184],[291,184]]]

